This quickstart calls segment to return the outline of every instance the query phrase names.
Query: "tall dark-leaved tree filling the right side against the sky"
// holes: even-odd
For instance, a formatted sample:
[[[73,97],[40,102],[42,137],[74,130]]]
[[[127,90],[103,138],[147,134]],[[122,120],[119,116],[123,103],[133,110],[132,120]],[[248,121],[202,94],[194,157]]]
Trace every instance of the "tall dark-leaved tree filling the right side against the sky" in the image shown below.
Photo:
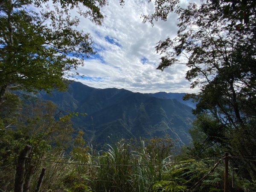
[[[216,133],[225,135],[225,145],[239,156],[256,155],[251,150],[256,147],[255,8],[253,0],[191,3],[180,12],[177,37],[160,41],[156,47],[163,54],[159,70],[185,60],[186,79],[191,88],[200,89],[186,96],[198,101],[193,112],[215,119],[215,131],[204,133],[212,141]],[[144,17],[150,22],[156,18],[161,16]],[[247,165],[251,176],[255,175],[256,165]]]

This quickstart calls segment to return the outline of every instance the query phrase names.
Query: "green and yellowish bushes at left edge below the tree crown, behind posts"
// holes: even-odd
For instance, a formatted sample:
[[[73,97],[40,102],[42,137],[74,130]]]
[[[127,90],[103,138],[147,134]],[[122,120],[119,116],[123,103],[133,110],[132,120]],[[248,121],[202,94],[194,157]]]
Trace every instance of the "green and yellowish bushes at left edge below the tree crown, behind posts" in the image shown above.
[[[23,108],[21,105],[23,104]],[[20,151],[26,145],[32,146],[29,157],[47,158],[50,154],[60,155],[73,143],[70,116],[56,113],[52,102],[21,100],[17,95],[8,94],[0,108],[0,189],[12,191],[15,166]],[[58,119],[59,116],[62,118]],[[27,161],[26,175],[32,176],[41,170],[41,162]],[[32,171],[32,166],[35,172]],[[27,169],[28,168],[28,169]],[[31,170],[32,172],[28,171]],[[26,177],[29,178],[29,177]],[[34,183],[38,177],[33,179]],[[29,180],[25,179],[29,182]],[[29,187],[29,183],[27,185]],[[23,190],[25,191],[25,190]]]

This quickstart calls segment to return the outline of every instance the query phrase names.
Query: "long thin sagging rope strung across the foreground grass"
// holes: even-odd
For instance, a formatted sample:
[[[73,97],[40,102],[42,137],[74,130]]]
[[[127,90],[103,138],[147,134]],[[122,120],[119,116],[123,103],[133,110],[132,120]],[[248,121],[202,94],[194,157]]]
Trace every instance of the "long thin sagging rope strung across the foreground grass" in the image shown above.
[[[220,156],[222,157],[222,156]],[[71,165],[82,165],[82,166],[157,166],[157,165],[172,165],[172,164],[183,164],[183,163],[191,163],[191,162],[197,162],[197,161],[207,161],[219,157],[211,157],[207,159],[202,160],[191,160],[191,161],[184,161],[184,162],[177,162],[177,163],[154,163],[154,164],[130,164],[130,165],[104,165],[104,164],[88,164],[88,163],[70,163],[70,162],[61,162],[61,161],[52,161],[52,160],[43,160],[43,159],[35,159],[30,157],[23,157],[25,159],[30,160],[37,160],[37,161],[45,161],[50,163],[62,163],[62,164],[71,164]]]

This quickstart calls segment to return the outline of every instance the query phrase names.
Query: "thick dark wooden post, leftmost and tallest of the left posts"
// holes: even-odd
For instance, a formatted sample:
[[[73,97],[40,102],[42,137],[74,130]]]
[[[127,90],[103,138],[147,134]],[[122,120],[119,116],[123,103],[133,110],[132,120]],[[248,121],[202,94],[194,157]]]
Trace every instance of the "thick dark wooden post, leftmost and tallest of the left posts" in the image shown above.
[[[31,150],[32,146],[26,145],[26,147],[20,152],[16,166],[14,192],[23,192],[26,157],[28,157]]]

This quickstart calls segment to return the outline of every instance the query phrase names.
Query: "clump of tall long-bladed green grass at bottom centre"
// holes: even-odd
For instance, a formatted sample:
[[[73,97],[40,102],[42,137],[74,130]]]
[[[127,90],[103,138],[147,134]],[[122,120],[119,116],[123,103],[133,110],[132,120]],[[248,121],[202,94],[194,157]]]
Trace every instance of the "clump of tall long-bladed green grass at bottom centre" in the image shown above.
[[[140,140],[140,145],[135,147],[120,140],[114,145],[108,145],[102,155],[94,158],[94,162],[102,166],[96,169],[92,181],[93,191],[105,192],[145,192],[152,184],[161,178],[165,169],[162,165],[167,159],[161,160],[147,151],[145,142]],[[106,166],[129,165],[129,166]]]

